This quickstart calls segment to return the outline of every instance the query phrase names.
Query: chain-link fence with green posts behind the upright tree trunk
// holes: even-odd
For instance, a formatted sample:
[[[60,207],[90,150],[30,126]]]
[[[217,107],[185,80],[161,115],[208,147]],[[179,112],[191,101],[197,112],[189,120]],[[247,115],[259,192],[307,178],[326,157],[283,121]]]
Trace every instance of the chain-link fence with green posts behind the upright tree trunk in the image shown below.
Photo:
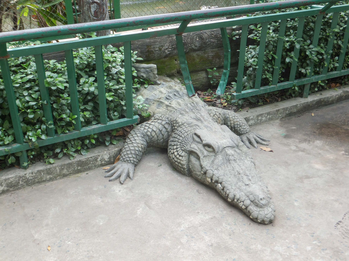
[[[250,0],[107,0],[109,18],[247,5]],[[0,0],[0,32],[80,22],[77,0]]]

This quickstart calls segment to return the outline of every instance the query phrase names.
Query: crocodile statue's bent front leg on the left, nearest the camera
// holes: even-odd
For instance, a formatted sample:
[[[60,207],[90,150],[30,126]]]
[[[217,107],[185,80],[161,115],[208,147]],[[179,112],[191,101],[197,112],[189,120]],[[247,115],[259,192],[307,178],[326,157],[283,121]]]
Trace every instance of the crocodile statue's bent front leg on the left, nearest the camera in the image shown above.
[[[121,150],[119,161],[107,169],[108,174],[104,177],[111,177],[109,181],[120,178],[121,184],[127,177],[132,180],[134,167],[139,163],[144,151],[148,147],[167,148],[171,132],[169,120],[164,116],[155,116],[132,129]]]

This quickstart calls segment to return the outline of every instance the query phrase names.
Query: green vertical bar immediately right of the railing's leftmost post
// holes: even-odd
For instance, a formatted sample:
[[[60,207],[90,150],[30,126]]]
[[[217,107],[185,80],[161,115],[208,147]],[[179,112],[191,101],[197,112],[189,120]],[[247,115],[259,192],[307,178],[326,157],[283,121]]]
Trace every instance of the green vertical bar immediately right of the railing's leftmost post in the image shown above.
[[[34,58],[35,58],[35,64],[36,64],[36,72],[38,74],[41,100],[46,102],[46,103],[43,103],[42,105],[44,116],[46,118],[46,121],[50,122],[50,121],[53,121],[53,117],[52,117],[52,111],[51,111],[49,90],[45,86],[46,74],[45,74],[45,65],[44,65],[43,55],[36,54],[34,55]],[[46,132],[49,137],[54,137],[53,124],[50,124],[50,127],[46,128]]]

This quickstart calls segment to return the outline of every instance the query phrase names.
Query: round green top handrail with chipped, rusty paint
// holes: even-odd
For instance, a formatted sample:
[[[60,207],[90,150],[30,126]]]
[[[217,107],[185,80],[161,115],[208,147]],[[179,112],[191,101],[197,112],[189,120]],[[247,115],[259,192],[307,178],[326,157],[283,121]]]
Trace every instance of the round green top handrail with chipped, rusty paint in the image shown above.
[[[255,13],[260,11],[277,10],[293,7],[320,5],[324,3],[334,3],[340,1],[329,0],[290,0],[290,1],[278,1],[269,3],[260,3],[255,5],[246,6],[233,6],[223,7],[215,9],[187,11],[172,14],[160,14],[151,16],[141,16],[133,18],[122,18],[99,22],[80,23],[80,24],[68,24],[61,26],[42,27],[27,30],[18,30],[10,32],[0,33],[0,43],[25,41],[32,39],[41,39],[46,37],[57,37],[60,35],[69,35],[76,33],[86,33],[102,30],[121,29],[135,26],[146,26],[155,24],[168,24],[171,22],[180,22],[193,19],[202,18],[215,18],[222,16],[232,16],[247,13]]]

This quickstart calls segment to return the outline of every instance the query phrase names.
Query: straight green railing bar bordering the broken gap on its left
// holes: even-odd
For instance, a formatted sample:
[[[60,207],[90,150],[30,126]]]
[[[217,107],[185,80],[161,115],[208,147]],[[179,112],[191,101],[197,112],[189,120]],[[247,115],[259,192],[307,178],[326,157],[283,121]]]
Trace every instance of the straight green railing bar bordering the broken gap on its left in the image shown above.
[[[124,42],[126,118],[133,118],[131,41]]]

